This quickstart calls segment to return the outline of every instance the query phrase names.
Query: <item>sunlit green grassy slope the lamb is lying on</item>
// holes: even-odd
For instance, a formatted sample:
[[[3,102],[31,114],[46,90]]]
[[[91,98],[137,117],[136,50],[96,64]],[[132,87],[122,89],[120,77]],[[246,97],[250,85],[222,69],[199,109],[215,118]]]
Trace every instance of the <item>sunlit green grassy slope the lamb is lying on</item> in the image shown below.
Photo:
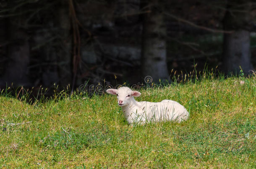
[[[0,97],[0,166],[256,168],[255,77],[141,92],[138,101],[178,101],[190,119],[129,126],[110,95],[34,106]]]

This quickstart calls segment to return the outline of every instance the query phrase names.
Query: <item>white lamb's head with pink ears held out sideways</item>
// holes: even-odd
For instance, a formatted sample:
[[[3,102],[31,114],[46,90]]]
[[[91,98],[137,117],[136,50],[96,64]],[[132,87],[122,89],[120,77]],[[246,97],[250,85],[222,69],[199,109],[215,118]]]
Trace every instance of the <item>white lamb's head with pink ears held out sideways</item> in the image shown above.
[[[134,100],[133,96],[138,97],[141,96],[141,93],[138,91],[132,91],[128,87],[120,87],[118,89],[107,89],[107,93],[116,95],[118,97],[118,105],[126,106]]]

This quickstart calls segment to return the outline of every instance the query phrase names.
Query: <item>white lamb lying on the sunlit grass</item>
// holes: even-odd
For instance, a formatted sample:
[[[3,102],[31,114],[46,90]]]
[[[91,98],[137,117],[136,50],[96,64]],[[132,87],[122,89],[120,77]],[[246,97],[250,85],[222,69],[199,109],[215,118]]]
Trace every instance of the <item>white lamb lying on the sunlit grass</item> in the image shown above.
[[[122,107],[125,119],[129,124],[144,124],[153,121],[186,121],[189,113],[180,103],[172,100],[161,102],[136,101],[133,97],[141,96],[138,91],[128,87],[107,89],[109,94],[118,97],[118,105]]]

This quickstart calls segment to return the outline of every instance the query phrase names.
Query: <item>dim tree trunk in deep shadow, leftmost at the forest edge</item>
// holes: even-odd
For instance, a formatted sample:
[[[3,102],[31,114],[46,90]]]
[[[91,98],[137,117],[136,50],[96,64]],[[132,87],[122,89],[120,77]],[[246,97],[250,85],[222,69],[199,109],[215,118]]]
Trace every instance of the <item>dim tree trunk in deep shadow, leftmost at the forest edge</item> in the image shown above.
[[[8,64],[3,81],[10,86],[30,86],[28,78],[29,35],[24,28],[25,17],[22,15],[9,18],[8,28]]]

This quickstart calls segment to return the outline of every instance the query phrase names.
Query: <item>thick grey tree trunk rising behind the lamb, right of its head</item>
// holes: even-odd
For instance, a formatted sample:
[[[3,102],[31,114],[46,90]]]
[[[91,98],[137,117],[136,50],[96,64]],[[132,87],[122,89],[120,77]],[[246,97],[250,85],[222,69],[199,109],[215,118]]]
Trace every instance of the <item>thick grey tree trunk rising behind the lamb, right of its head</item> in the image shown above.
[[[155,3],[154,5],[156,5]],[[164,16],[154,5],[143,17],[142,35],[142,76],[151,76],[154,82],[168,78],[166,63],[166,28]]]

